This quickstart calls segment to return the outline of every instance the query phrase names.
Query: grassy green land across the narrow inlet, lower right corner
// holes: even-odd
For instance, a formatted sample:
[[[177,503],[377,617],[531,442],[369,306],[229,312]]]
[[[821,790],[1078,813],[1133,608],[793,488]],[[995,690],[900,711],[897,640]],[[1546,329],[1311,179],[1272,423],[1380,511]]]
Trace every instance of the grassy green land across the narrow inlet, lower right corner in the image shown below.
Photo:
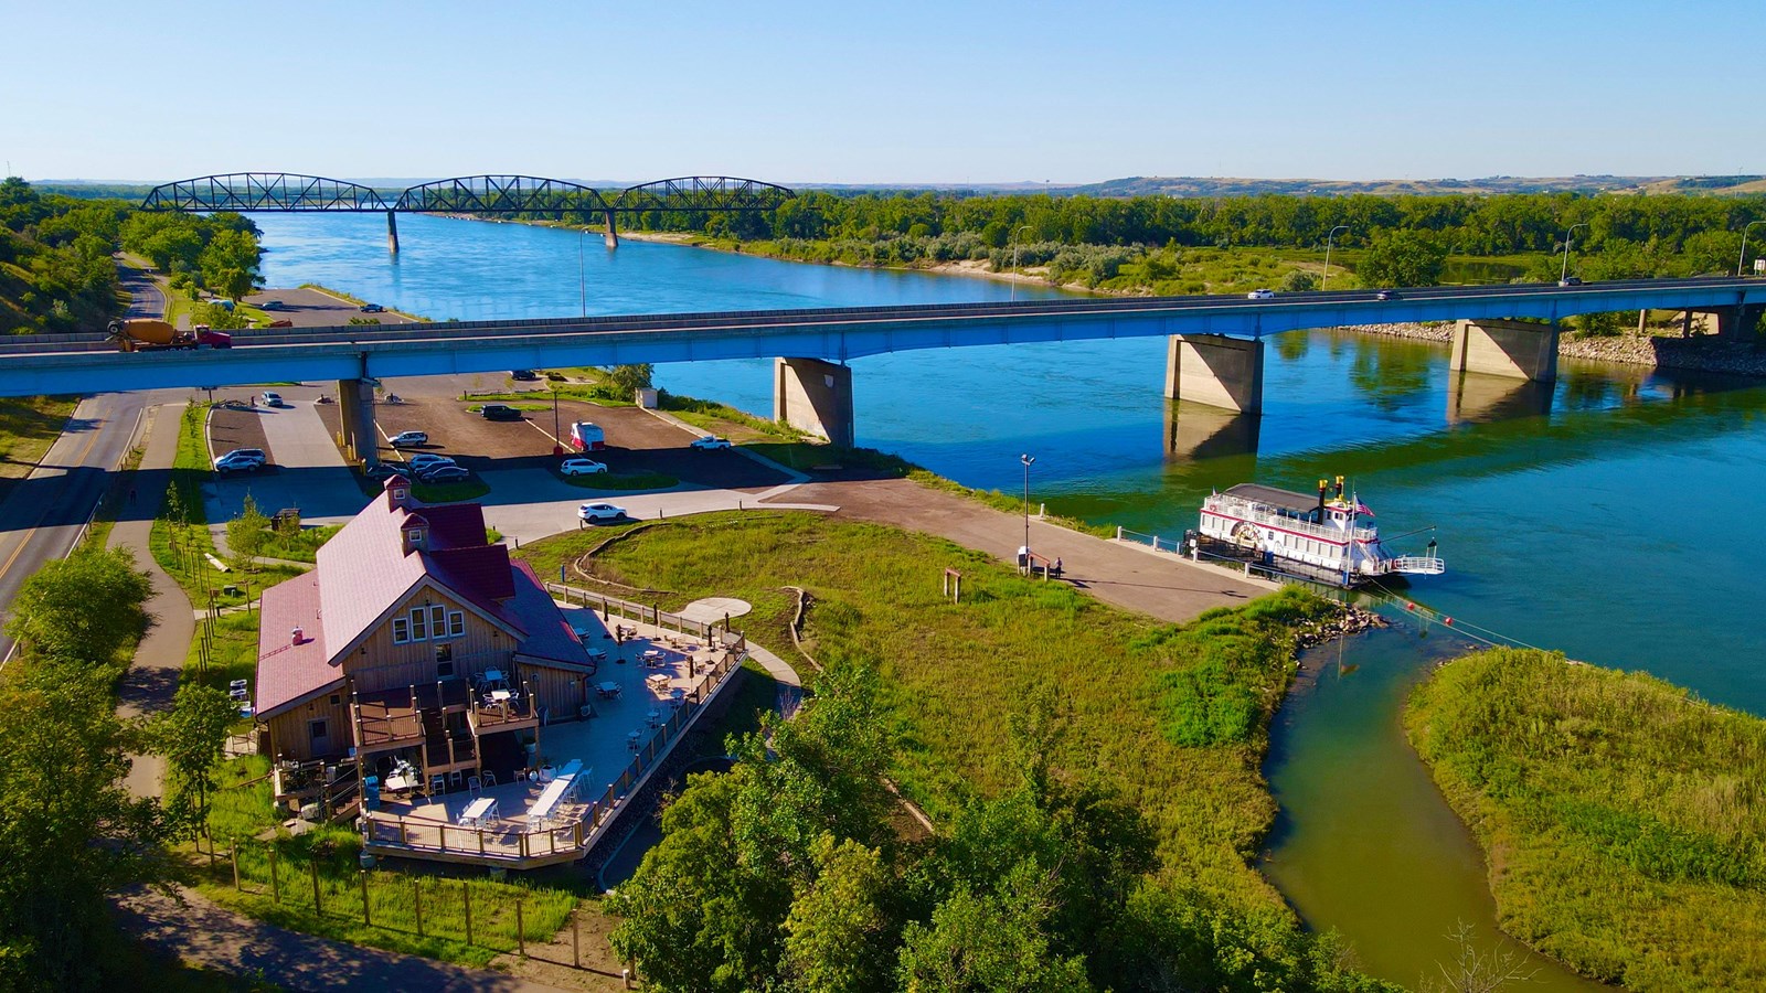
[[[1505,931],[1628,989],[1766,984],[1766,721],[1501,648],[1441,666],[1406,730]]]

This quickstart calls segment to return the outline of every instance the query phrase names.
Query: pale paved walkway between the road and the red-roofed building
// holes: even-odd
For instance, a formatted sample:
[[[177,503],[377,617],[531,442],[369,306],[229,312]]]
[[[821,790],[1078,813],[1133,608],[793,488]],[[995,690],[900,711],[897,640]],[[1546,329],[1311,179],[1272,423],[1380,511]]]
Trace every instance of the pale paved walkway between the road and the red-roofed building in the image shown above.
[[[148,550],[148,532],[152,532],[154,518],[159,516],[159,507],[166,498],[171,461],[178,452],[178,421],[182,417],[182,403],[148,410],[147,452],[129,479],[134,496],[124,504],[117,527],[109,534],[109,548],[134,551],[136,565],[147,571],[154,583],[154,595],[147,601],[147,613],[154,618],[154,625],[147,631],[147,638],[141,638],[134,650],[134,664],[129,666],[129,673],[117,687],[117,712],[124,717],[161,714],[171,709],[171,698],[178,693],[178,675],[184,671],[184,657],[196,634],[189,597],[154,562]],[[161,795],[164,770],[166,763],[157,754],[132,756],[129,792],[136,797]]]

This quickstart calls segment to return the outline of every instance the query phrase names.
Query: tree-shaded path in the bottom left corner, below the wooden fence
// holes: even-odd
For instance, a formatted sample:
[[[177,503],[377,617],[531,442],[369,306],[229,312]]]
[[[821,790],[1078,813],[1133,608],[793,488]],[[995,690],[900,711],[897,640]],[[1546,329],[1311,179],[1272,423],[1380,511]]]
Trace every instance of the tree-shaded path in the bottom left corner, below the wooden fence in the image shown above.
[[[182,903],[155,891],[124,894],[117,901],[117,922],[145,945],[180,961],[231,975],[261,975],[279,988],[298,993],[556,989],[496,972],[300,935],[240,917],[191,891],[182,891],[180,896]]]

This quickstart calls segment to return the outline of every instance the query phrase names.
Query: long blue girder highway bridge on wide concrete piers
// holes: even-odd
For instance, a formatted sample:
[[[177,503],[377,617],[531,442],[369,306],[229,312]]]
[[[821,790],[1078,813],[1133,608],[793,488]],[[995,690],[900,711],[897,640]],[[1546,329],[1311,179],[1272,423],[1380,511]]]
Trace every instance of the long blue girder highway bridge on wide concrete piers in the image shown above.
[[[373,387],[387,376],[774,359],[774,417],[853,443],[853,359],[1031,341],[1166,336],[1166,396],[1238,413],[1263,406],[1263,339],[1287,330],[1459,322],[1455,371],[1549,382],[1558,320],[1605,311],[1701,311],[1752,330],[1766,281],[1641,279],[1586,286],[1432,286],[1275,299],[1137,297],[346,325],[238,332],[228,350],[118,352],[101,334],[0,341],[0,396],[339,380],[344,442],[374,458]],[[364,443],[355,445],[362,438]]]

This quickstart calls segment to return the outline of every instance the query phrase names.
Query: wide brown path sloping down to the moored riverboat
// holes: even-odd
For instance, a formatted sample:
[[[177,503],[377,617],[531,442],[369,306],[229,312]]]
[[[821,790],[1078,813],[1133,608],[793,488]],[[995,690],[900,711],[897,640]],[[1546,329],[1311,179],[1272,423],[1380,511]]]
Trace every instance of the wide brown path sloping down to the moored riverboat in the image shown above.
[[[834,504],[841,507],[835,516],[934,534],[1001,562],[1015,562],[1024,544],[1024,518],[911,479],[809,482],[791,491],[791,502]],[[1030,546],[1061,560],[1060,581],[1160,620],[1192,620],[1204,610],[1240,606],[1275,588],[1037,519],[1030,523]]]

